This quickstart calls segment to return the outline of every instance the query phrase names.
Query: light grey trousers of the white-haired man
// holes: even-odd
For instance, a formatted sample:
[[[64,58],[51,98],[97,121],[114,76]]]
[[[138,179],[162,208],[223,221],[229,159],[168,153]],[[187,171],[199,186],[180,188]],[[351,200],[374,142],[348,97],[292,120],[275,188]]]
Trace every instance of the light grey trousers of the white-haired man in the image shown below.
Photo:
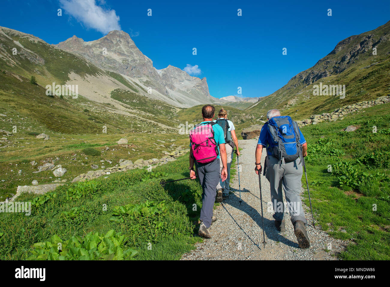
[[[274,156],[267,155],[266,178],[271,188],[271,201],[273,206],[273,218],[283,220],[285,211],[291,215],[291,222],[301,220],[305,224],[307,220],[302,208],[301,178],[303,174],[301,159],[285,164],[278,164],[278,159]],[[282,186],[284,189],[287,207],[283,202]]]

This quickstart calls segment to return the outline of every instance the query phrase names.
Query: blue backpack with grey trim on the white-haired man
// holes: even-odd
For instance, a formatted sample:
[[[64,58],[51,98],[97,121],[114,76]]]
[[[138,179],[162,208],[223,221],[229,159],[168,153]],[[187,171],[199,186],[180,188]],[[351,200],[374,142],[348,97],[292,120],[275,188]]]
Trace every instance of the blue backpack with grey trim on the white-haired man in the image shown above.
[[[268,132],[277,143],[271,149],[279,164],[302,158],[302,146],[298,124],[289,116],[272,117],[268,120]]]

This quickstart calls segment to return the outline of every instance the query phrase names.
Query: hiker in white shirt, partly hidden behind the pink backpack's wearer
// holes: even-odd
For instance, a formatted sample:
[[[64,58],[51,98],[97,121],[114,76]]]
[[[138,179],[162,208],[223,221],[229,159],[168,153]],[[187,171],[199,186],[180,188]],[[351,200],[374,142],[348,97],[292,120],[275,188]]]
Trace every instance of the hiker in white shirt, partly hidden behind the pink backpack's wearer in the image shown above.
[[[236,146],[236,154],[237,156],[240,155],[240,152],[238,151],[238,140],[236,136],[236,128],[234,128],[234,124],[231,120],[227,119],[227,111],[223,108],[218,113],[218,119],[213,120],[213,122],[216,122],[218,125],[221,126],[223,129],[223,134],[225,135],[225,148],[226,148],[226,156],[227,156],[227,177],[225,181],[218,182],[217,185],[217,197],[216,202],[222,202],[222,200],[229,197],[230,192],[230,166],[232,165],[233,160],[233,151],[234,146]],[[222,172],[222,161],[220,162],[220,172]]]

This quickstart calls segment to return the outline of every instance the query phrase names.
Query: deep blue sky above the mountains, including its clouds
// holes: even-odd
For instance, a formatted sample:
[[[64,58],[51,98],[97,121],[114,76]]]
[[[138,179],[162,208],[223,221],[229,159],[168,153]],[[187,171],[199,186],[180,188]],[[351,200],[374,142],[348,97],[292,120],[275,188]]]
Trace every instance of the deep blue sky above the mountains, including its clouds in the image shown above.
[[[212,96],[236,95],[241,87],[240,96],[258,97],[312,67],[339,41],[390,20],[389,0],[264,2],[2,0],[0,26],[49,44],[121,29],[157,69],[197,65],[191,70],[200,74],[193,75],[207,78]]]

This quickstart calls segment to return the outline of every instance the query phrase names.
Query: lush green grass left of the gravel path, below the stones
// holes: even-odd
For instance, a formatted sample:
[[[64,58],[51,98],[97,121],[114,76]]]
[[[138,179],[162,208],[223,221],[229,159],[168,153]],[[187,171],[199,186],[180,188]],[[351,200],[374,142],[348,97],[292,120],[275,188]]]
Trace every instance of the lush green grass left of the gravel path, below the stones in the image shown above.
[[[179,259],[200,240],[193,236],[196,230],[193,221],[199,219],[202,188],[197,181],[180,181],[167,184],[165,188],[159,182],[162,178],[168,181],[188,176],[187,167],[188,157],[183,157],[153,170],[161,177],[149,177],[146,170],[131,170],[112,174],[107,179],[62,186],[39,196],[48,198],[34,201],[36,206],[32,206],[30,216],[1,213],[0,259],[25,259],[32,255],[29,252],[32,244],[50,241],[53,235],[67,240],[89,232],[105,234],[111,229],[130,236],[124,248],[138,250],[135,259]],[[23,194],[18,201],[33,198],[33,195]],[[153,211],[148,216],[135,216],[122,223],[110,221],[115,206],[137,206],[147,201],[156,204],[165,201],[166,211],[158,208],[158,213]],[[193,204],[197,206],[196,211]],[[160,221],[167,224],[157,227]]]

